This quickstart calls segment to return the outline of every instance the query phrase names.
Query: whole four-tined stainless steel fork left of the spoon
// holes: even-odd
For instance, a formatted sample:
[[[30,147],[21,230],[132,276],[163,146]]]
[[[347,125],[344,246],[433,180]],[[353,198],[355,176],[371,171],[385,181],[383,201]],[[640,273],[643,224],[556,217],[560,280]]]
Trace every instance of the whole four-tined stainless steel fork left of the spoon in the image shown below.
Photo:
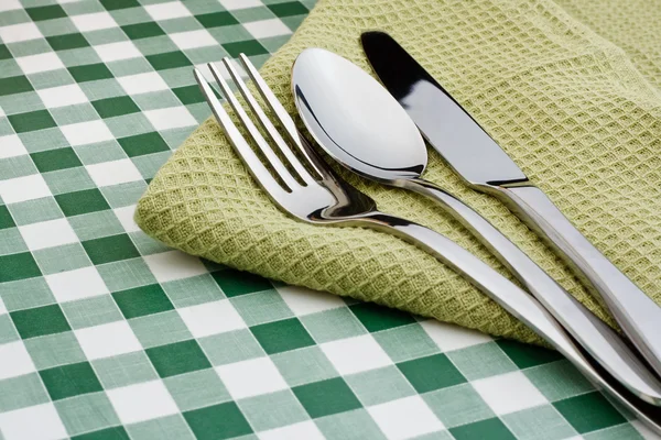
[[[239,103],[218,68],[213,63],[207,66],[235,116],[261,152],[263,161],[243,138],[197,68],[194,69],[194,75],[235,152],[254,180],[282,211],[301,221],[322,227],[376,229],[426,251],[519,318],[567,358],[598,388],[605,391],[607,396],[628,408],[661,435],[661,408],[637,398],[600,369],[588,354],[576,346],[562,326],[537,299],[442,234],[412,221],[380,212],[369,196],[337,176],[299,132],[291,116],[250,61],[243,54],[240,55],[240,61],[275,121],[281,125],[286,141],[260,107],[229,58],[224,58],[223,63],[268,139]],[[280,155],[270,144],[275,144]],[[292,150],[292,145],[295,151]]]

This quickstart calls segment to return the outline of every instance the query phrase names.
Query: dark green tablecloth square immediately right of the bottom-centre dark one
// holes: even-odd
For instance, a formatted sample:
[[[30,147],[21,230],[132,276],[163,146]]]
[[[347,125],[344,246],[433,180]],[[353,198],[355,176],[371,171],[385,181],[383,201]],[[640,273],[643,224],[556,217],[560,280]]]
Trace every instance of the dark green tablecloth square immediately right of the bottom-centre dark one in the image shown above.
[[[446,388],[466,382],[466,377],[443,353],[397,364],[418,393]]]

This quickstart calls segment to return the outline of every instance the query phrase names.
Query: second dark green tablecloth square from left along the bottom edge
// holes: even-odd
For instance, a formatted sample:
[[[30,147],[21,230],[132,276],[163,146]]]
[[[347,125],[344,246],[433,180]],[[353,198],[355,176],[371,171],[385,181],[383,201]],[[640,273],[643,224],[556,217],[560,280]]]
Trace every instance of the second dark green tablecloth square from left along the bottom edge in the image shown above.
[[[252,432],[246,417],[234,402],[184,413],[197,440],[221,440]]]

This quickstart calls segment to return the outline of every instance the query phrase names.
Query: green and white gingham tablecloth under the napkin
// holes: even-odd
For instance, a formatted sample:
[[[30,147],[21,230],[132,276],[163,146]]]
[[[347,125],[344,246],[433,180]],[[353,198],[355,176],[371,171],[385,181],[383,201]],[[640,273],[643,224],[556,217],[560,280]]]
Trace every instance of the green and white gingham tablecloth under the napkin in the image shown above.
[[[275,285],[132,221],[315,0],[0,0],[0,440],[652,438],[556,353]]]

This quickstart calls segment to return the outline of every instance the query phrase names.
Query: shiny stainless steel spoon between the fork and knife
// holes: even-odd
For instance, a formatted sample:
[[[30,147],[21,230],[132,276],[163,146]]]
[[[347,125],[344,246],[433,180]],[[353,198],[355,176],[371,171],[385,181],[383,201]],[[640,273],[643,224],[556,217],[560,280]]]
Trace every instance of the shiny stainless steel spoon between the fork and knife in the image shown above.
[[[488,220],[421,176],[426,146],[392,96],[349,61],[307,48],[292,72],[294,102],[319,146],[346,168],[436,201],[485,244],[620,384],[661,406],[661,383],[610,327],[562,288]]]

